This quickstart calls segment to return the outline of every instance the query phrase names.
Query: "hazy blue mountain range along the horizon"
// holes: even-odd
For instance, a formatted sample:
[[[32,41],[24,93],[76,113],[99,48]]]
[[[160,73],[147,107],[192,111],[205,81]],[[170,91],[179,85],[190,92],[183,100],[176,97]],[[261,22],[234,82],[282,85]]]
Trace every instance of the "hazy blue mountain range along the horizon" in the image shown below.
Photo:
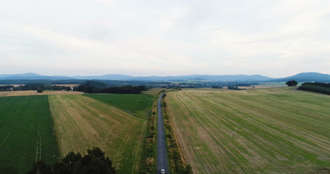
[[[0,74],[0,80],[137,80],[137,81],[288,81],[297,80],[299,82],[310,81],[330,81],[330,75],[322,73],[299,73],[285,78],[271,78],[263,75],[179,75],[179,76],[147,76],[147,77],[134,77],[130,75],[108,74],[99,76],[46,76],[35,73],[13,74],[6,75]]]

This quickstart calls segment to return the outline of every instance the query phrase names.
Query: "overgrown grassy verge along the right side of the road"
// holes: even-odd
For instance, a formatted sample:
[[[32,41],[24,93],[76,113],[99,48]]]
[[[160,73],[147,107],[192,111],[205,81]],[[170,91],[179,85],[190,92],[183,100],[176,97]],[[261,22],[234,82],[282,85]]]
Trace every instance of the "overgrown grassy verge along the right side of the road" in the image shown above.
[[[167,104],[164,101],[165,97],[166,94],[164,94],[163,96],[161,108],[163,110],[163,117],[164,117],[166,146],[169,157],[170,173],[173,174],[193,173],[191,166],[188,163],[186,163],[186,161],[183,159],[181,148],[176,138],[176,133],[173,130],[173,123],[171,123],[171,118],[167,111]]]

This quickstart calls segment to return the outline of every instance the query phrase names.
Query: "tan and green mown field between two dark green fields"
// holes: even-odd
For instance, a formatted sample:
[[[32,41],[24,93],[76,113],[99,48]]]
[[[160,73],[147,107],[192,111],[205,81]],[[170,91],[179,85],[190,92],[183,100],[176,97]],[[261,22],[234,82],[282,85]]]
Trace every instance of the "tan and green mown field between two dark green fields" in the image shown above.
[[[49,96],[61,156],[100,147],[118,173],[138,173],[147,120],[82,95]]]

